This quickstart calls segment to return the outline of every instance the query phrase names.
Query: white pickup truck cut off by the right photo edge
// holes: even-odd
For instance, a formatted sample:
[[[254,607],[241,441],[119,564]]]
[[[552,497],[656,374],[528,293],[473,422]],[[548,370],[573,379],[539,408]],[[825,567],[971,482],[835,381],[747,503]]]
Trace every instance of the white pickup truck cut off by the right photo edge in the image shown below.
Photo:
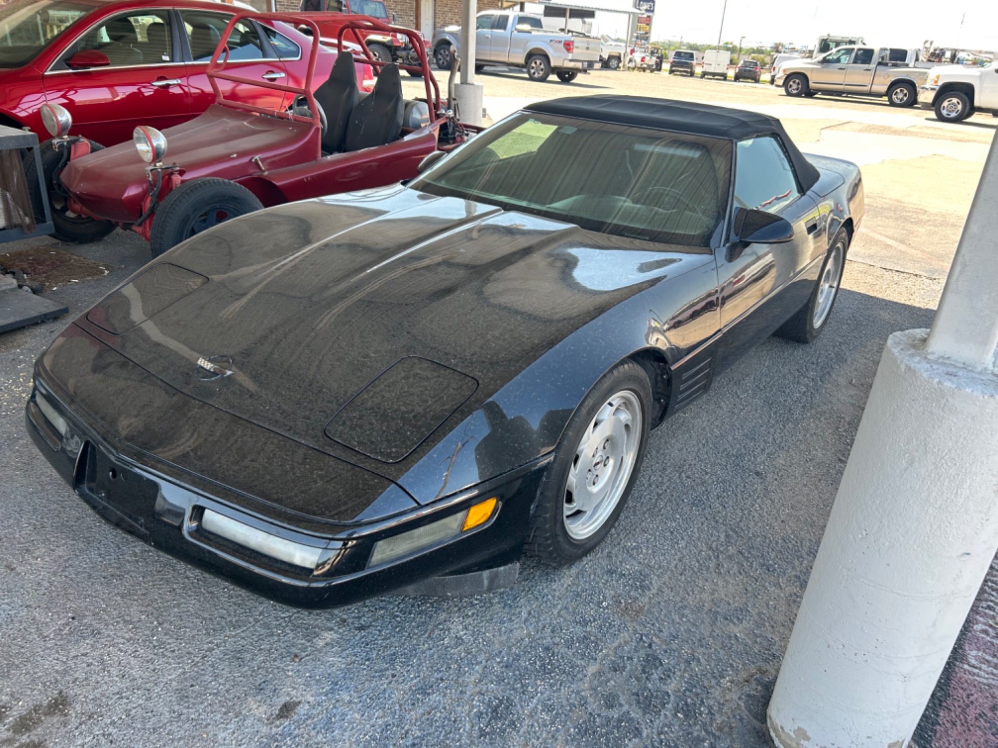
[[[998,117],[998,60],[983,68],[930,68],[928,78],[918,88],[918,104],[934,109],[936,119],[943,122],[960,122],[974,112]]]

